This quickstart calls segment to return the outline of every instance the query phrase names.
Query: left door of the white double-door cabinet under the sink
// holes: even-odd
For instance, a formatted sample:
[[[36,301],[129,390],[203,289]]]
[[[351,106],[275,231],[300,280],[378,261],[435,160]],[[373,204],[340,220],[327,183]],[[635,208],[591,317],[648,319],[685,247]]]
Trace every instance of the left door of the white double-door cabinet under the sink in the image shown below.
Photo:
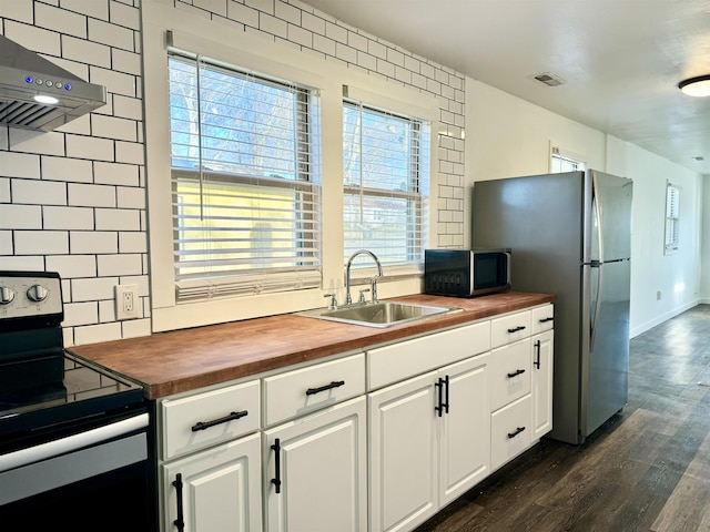
[[[368,396],[371,532],[412,530],[438,509],[437,375]]]

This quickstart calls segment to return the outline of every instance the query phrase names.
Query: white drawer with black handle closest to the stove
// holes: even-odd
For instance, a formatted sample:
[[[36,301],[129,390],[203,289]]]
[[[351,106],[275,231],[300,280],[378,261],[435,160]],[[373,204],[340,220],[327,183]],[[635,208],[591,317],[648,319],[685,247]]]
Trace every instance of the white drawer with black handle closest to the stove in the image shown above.
[[[258,429],[258,380],[161,402],[163,459],[233,440]]]

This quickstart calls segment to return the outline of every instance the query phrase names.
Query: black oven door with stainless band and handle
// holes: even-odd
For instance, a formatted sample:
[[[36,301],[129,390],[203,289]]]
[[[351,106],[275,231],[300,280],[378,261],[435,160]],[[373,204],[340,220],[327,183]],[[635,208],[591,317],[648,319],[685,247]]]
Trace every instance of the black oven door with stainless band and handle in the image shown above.
[[[22,530],[152,530],[148,423],[146,412],[104,419],[0,456],[0,522]]]

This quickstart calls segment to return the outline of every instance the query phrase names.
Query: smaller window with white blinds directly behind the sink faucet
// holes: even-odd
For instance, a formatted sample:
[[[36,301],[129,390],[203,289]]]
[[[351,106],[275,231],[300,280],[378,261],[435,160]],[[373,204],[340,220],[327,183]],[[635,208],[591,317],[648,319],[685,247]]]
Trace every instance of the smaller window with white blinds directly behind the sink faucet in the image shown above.
[[[427,235],[429,135],[425,121],[343,104],[344,248],[383,265],[418,264]]]

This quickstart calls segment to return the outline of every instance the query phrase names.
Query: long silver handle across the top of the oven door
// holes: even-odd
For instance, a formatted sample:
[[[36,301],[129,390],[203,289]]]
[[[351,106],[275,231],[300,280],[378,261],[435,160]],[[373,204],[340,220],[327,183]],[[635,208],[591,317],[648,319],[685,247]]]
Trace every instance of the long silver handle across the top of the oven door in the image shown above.
[[[19,451],[9,452],[0,456],[0,472],[11,469],[21,468],[30,463],[36,463],[48,458],[65,454],[77,451],[85,447],[91,447],[112,438],[141,430],[148,427],[148,413],[141,413],[132,418],[116,421],[115,423],[98,427],[95,429],[80,432],[78,434],[68,436],[47,443],[20,449]]]

